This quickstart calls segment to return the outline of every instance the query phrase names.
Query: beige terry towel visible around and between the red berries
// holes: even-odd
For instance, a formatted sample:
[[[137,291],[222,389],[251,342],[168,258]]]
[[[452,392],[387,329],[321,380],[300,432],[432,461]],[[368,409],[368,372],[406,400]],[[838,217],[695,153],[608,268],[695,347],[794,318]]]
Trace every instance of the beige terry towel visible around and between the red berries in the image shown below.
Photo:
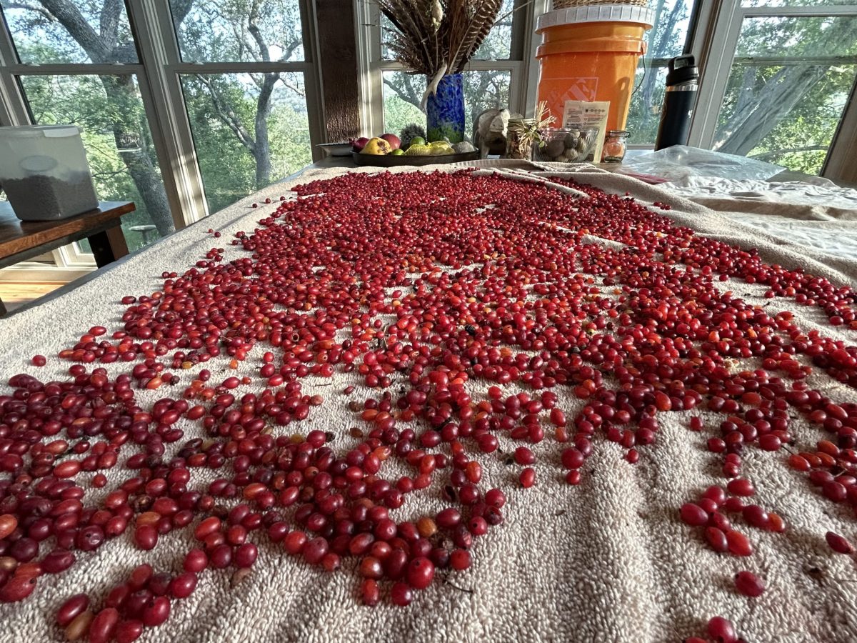
[[[483,165],[506,172],[517,172],[516,167],[533,169],[525,164]],[[664,189],[591,167],[563,169],[572,169],[578,180],[608,191],[629,191],[641,201],[670,203],[674,209],[665,214],[678,224],[729,243],[758,247],[766,261],[806,267],[837,284],[854,285],[854,261],[743,225],[740,215],[717,213],[674,198]],[[309,171],[298,181],[335,173]],[[117,328],[124,309],[120,297],[158,290],[163,270],[181,271],[214,245],[227,248],[227,260],[242,254],[228,245],[228,239],[236,231],[252,230],[255,221],[275,207],[251,209],[250,202],[261,202],[265,196],[276,201],[279,195],[288,194],[289,187],[279,184],[263,189],[111,267],[68,295],[0,320],[3,373],[9,376],[22,371],[43,380],[62,378],[68,363],[50,358],[47,367],[37,369],[29,365],[29,358],[35,353],[56,355],[95,323],[103,323],[111,331]],[[792,214],[791,207],[782,206],[781,213],[768,216],[788,219]],[[840,221],[830,230],[831,236],[837,231],[854,232],[855,225],[853,217]],[[213,239],[206,233],[209,227],[223,231],[223,237]],[[737,287],[742,295],[760,294],[755,286]],[[756,301],[752,295],[746,298]],[[801,323],[806,328],[822,328],[825,334],[854,343],[853,332],[837,332],[827,324],[819,326],[818,315],[808,315],[800,306],[775,300],[770,308],[791,308],[803,315]],[[113,373],[121,369],[114,366]],[[356,384],[353,374],[335,376],[333,387],[317,387],[318,383],[308,378],[304,392],[325,395],[325,405],[314,409],[303,426],[291,425],[289,431],[332,429],[339,433],[333,446],[343,448],[351,444],[345,430],[354,424],[347,401],[363,399],[369,392],[358,386],[353,398],[332,393],[348,383]],[[854,389],[825,377],[815,377],[812,385],[836,400],[857,402]],[[139,399],[151,404],[158,397],[144,393]],[[561,393],[560,406],[575,409],[580,402]],[[500,486],[506,490],[506,521],[476,538],[469,570],[449,574],[448,583],[439,574],[428,590],[416,593],[408,608],[394,607],[387,599],[374,609],[363,607],[357,598],[359,579],[354,561],[347,560],[343,570],[327,574],[283,554],[262,537],[257,541],[260,559],[249,580],[231,589],[231,570],[207,570],[190,598],[173,602],[165,625],[146,630],[141,640],[644,643],[704,635],[705,622],[716,615],[731,619],[750,643],[857,640],[854,557],[833,554],[824,542],[828,529],[857,541],[853,511],[820,497],[805,476],[785,466],[784,452],[747,449],[743,474],[756,485],[756,502],[782,514],[788,529],[776,534],[747,527],[744,531],[756,550],[753,556],[717,555],[704,544],[697,528],[678,520],[683,502],[697,498],[710,484],[725,482],[720,475],[721,460],[705,449],[709,434],[687,430],[688,415],[681,412],[659,417],[662,429],[657,442],[640,449],[636,466],[622,460],[622,449],[599,438],[595,454],[584,465],[583,482],[577,487],[562,481],[558,466],[561,449],[549,438],[534,449],[539,459],[538,484],[530,490],[517,484],[520,467],[504,466],[493,456],[481,457],[482,488]],[[800,422],[793,422],[791,427],[800,448],[811,448],[823,437],[821,431]],[[183,422],[183,428],[187,431],[185,439],[193,436],[189,423]],[[501,445],[510,446],[502,438]],[[111,483],[106,490],[126,476],[119,467],[109,472]],[[86,482],[87,476],[81,474],[79,479]],[[103,496],[106,490],[93,490],[93,498]],[[393,514],[405,520],[442,506],[434,490],[408,496],[405,507]],[[151,552],[137,550],[129,531],[95,554],[78,553],[78,562],[71,570],[39,579],[26,601],[0,605],[0,641],[61,640],[53,622],[64,598],[89,592],[98,602],[140,562],[152,562],[156,571],[176,571],[183,552],[191,546],[189,531],[162,537]],[[734,591],[732,577],[742,569],[759,574],[767,582],[768,590],[762,597],[745,598]]]

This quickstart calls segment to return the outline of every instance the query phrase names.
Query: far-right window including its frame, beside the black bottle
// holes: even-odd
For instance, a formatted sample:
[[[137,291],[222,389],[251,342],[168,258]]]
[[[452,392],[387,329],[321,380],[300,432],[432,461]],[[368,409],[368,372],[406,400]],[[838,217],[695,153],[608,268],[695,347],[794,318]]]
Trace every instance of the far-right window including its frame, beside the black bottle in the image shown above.
[[[735,5],[716,23],[692,144],[821,174],[857,77],[857,3]]]

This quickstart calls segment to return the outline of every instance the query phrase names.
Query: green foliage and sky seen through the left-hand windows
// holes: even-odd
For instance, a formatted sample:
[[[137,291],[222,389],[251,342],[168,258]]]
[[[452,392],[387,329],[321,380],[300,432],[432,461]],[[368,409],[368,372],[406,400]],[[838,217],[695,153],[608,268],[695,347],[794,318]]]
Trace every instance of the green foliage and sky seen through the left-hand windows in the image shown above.
[[[71,0],[69,0],[70,2]],[[15,5],[14,7],[11,5]],[[45,6],[42,6],[44,4]],[[112,5],[112,3],[110,3]],[[22,61],[33,63],[87,63],[116,60],[136,62],[134,40],[124,4],[117,18],[111,51],[104,60],[93,61],[81,43],[33,0],[13,3],[0,0]],[[105,0],[75,0],[74,5],[94,31],[101,34]],[[118,7],[119,5],[117,5]],[[44,10],[43,10],[44,9]],[[173,15],[185,60],[257,61],[303,59],[303,37],[297,0],[171,0]],[[181,19],[183,18],[183,20]],[[201,82],[202,79],[207,82]],[[216,212],[255,191],[255,119],[261,75],[229,74],[183,76],[183,89],[193,131],[196,156],[206,190],[209,210]],[[140,133],[142,150],[158,172],[152,135],[136,87],[107,93],[105,86],[134,83],[130,75],[23,76],[22,83],[36,123],[74,123],[83,130],[96,189],[102,200],[133,200],[137,211],[123,217],[129,249],[143,245],[141,233],[129,231],[149,224],[151,216],[117,149],[115,125]],[[279,180],[312,161],[309,116],[303,92],[303,75],[282,74],[273,88],[267,108],[268,150],[273,172]],[[262,109],[266,109],[263,105]],[[265,113],[265,112],[263,112]],[[228,115],[228,116],[227,116]],[[239,140],[240,124],[249,138]],[[122,141],[118,145],[122,146]],[[150,241],[157,232],[149,234]]]

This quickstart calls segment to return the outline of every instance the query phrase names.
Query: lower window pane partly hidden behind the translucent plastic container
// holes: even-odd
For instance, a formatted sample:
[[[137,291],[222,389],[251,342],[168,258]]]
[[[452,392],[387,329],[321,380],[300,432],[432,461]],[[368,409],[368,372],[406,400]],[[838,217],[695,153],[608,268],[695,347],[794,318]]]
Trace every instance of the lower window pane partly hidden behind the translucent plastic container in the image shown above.
[[[129,250],[174,230],[135,75],[22,76],[35,123],[72,123],[101,201],[134,201],[120,219]]]

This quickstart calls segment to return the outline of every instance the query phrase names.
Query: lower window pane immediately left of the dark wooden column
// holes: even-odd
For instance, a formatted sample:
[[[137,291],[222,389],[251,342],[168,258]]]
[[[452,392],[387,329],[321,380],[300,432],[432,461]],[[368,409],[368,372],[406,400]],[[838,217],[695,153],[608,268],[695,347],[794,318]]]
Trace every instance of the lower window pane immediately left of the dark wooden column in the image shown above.
[[[312,162],[303,74],[183,75],[182,85],[210,212]]]

